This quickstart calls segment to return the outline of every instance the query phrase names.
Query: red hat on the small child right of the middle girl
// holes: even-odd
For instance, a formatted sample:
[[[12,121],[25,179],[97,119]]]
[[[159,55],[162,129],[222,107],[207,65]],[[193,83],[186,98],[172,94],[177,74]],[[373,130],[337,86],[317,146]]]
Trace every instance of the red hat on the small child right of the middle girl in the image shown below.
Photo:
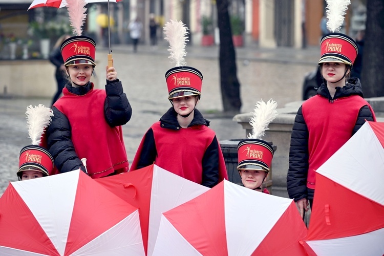
[[[274,150],[272,146],[260,139],[244,139],[238,144],[238,170],[261,169],[269,172]]]

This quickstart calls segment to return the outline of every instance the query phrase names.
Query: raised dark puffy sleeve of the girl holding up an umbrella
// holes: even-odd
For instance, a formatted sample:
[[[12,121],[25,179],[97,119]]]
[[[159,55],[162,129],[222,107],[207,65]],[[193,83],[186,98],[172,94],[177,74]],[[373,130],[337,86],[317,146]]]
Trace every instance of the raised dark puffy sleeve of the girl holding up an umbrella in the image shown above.
[[[131,119],[132,108],[123,92],[121,81],[119,79],[106,80],[105,92],[104,116],[106,122],[111,127],[126,124]]]

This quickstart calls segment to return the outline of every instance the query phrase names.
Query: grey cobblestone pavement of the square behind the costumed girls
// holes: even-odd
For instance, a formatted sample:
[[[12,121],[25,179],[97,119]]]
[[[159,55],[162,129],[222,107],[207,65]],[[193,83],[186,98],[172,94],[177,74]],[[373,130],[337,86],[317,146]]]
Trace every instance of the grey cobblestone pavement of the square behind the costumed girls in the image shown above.
[[[240,124],[232,116],[222,115],[219,84],[218,47],[188,47],[185,60],[188,66],[199,69],[204,76],[202,97],[198,109],[211,121],[211,128],[220,141],[245,138]],[[105,84],[106,54],[98,49],[96,67],[98,88]],[[170,107],[165,84],[165,72],[173,66],[169,63],[165,45],[156,50],[139,45],[138,53],[132,46],[114,46],[114,66],[122,81],[133,115],[123,126],[124,142],[129,161],[132,162],[142,136],[152,123]],[[238,48],[237,67],[241,83],[242,113],[251,112],[255,102],[273,98],[279,107],[301,100],[305,73],[316,67],[317,49],[291,48],[258,49]],[[32,83],[33,84],[33,81]],[[55,86],[55,85],[52,85]],[[18,155],[22,147],[30,144],[26,127],[26,107],[30,104],[50,106],[47,98],[0,97],[0,195],[8,181],[16,181]]]

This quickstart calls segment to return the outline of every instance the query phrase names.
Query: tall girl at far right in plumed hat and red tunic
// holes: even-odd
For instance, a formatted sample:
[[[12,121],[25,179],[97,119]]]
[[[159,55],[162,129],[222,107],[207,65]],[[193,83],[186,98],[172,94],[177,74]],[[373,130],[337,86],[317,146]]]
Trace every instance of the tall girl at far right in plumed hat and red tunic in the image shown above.
[[[334,32],[339,30],[344,20],[334,13],[344,14],[344,10],[341,6],[333,7],[337,10],[327,9],[333,14],[329,15],[327,23],[332,32],[321,40],[318,61],[324,83],[317,95],[298,109],[291,133],[287,189],[302,217],[308,205],[313,209],[313,204],[316,204],[315,170],[366,121],[376,121],[370,104],[363,98],[360,80],[349,79],[357,45],[351,37]]]

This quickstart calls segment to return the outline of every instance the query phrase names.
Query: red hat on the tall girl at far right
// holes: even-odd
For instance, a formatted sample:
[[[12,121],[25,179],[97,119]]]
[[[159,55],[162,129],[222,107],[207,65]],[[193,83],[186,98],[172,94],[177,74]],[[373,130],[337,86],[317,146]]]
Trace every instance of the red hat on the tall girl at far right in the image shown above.
[[[329,33],[322,38],[318,64],[340,62],[352,66],[357,53],[356,42],[351,37],[342,33]]]

